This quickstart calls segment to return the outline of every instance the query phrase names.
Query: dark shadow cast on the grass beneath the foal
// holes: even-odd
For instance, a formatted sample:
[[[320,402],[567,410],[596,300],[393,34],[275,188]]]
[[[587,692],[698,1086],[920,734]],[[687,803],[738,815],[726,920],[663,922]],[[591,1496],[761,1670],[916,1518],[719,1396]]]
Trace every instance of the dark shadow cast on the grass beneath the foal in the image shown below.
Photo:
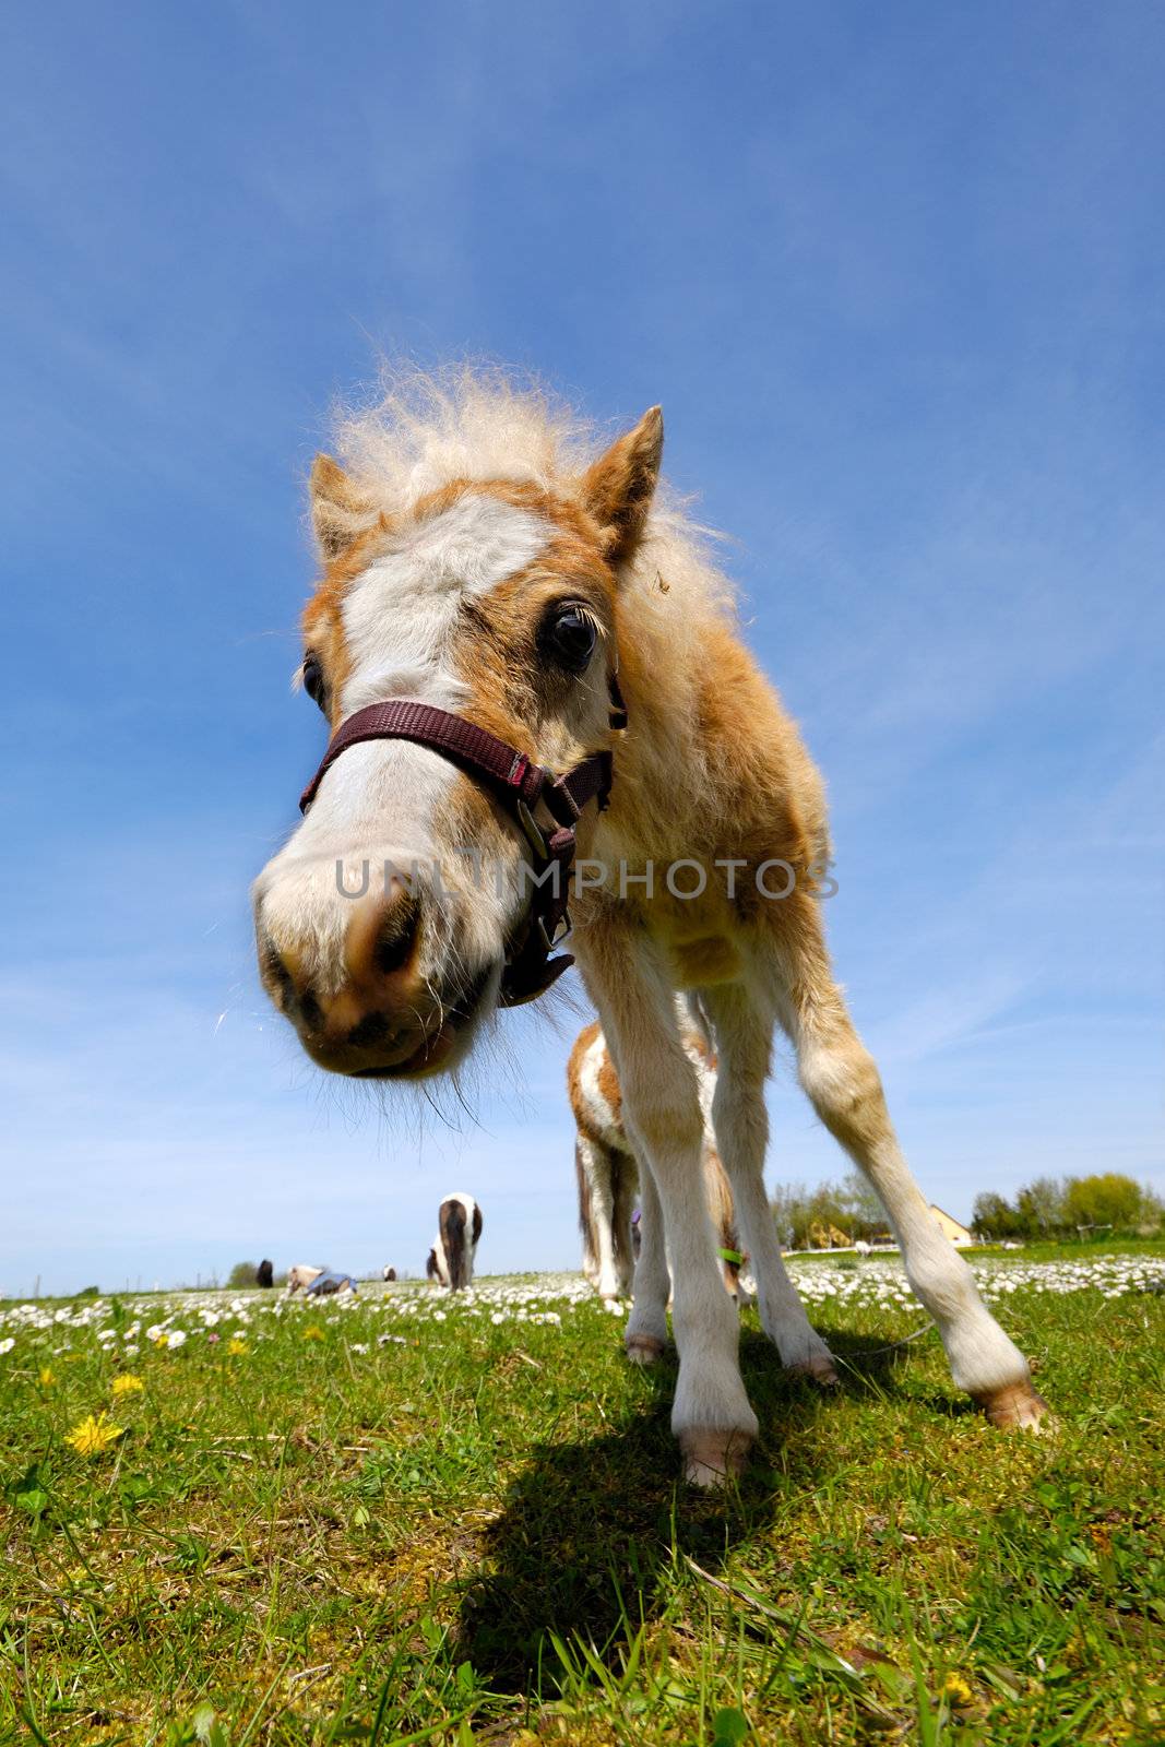
[[[662,1604],[676,1562],[686,1555],[716,1572],[791,1494],[819,1483],[830,1394],[782,1371],[760,1333],[744,1331],[741,1370],[762,1438],[742,1480],[723,1492],[678,1478],[669,1429],[674,1361],[650,1373],[651,1399],[629,1405],[622,1424],[596,1438],[534,1447],[461,1600],[458,1654],[494,1689],[524,1691],[540,1665],[552,1667],[552,1637],[603,1651],[634,1632]],[[844,1387],[886,1391],[891,1373],[887,1356],[873,1373],[868,1364],[847,1368]]]

